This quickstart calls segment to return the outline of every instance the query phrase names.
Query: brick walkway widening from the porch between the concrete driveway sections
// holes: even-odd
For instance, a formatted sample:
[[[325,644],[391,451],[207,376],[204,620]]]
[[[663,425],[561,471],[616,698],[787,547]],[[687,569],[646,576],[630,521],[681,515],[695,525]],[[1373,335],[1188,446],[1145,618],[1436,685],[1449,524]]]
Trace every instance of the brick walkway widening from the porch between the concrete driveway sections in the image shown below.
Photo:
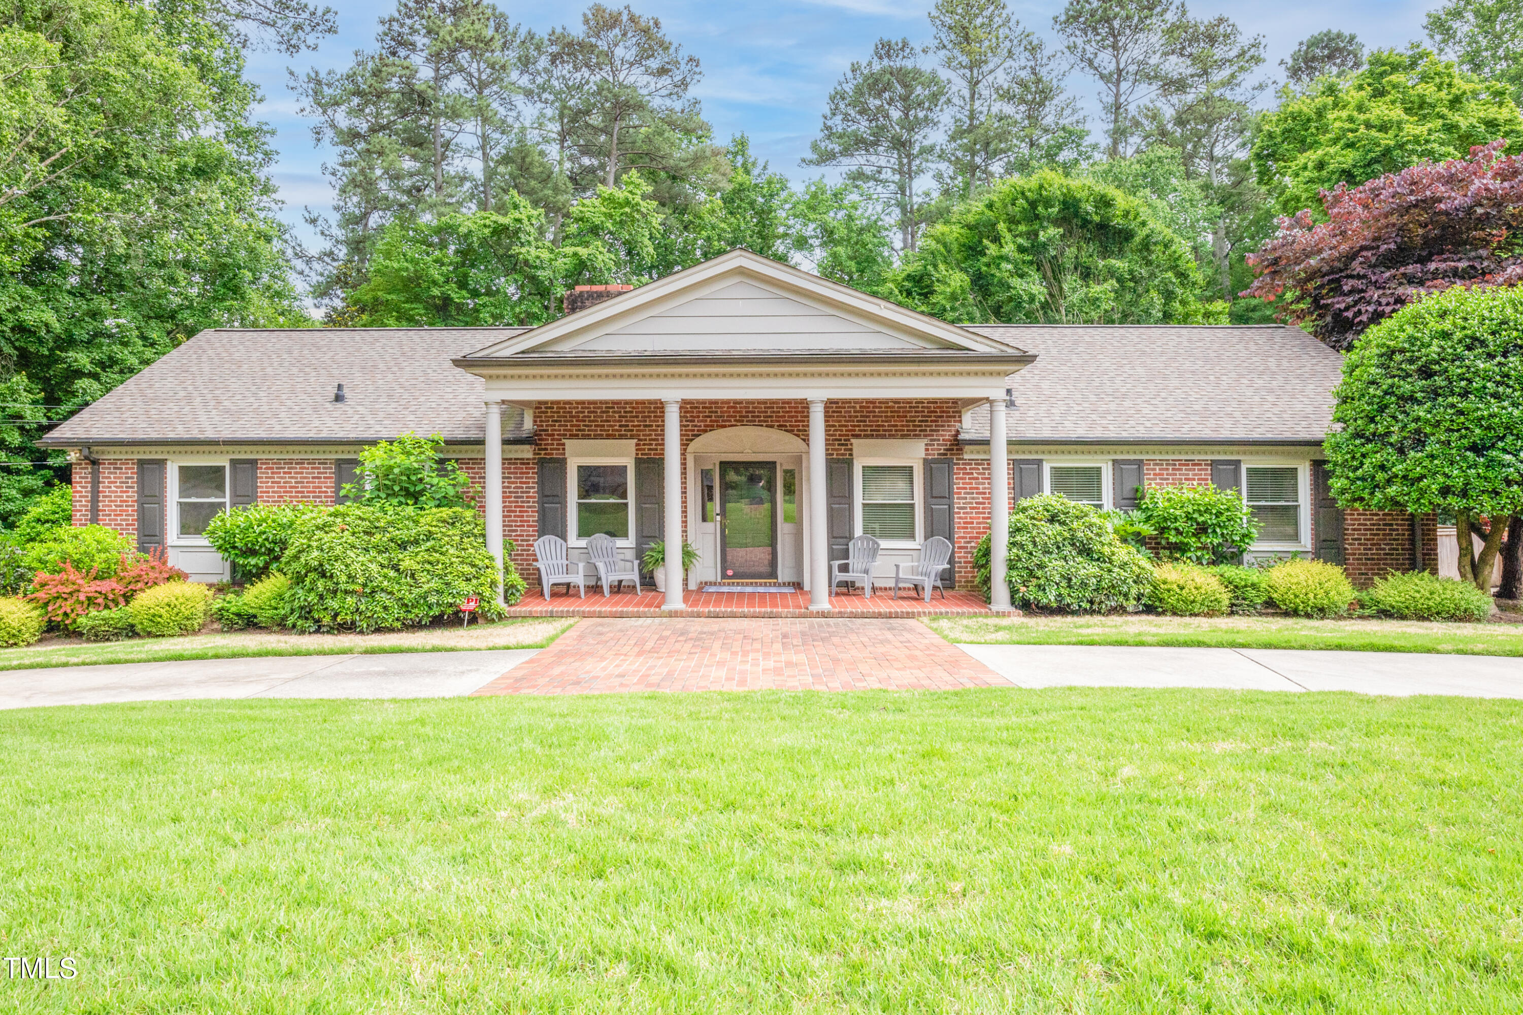
[[[1008,682],[909,619],[585,619],[477,694],[950,691]]]

